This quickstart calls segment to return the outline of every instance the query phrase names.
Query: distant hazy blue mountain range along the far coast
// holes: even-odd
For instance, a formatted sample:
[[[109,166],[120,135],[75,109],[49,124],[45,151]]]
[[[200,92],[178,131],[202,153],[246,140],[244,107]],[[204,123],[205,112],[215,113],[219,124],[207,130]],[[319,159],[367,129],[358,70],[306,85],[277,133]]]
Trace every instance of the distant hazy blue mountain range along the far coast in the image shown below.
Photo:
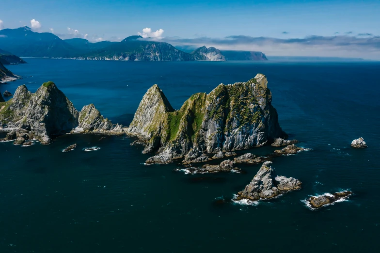
[[[70,58],[124,61],[228,61],[268,60],[262,52],[220,51],[199,47],[192,52],[178,50],[166,42],[130,36],[121,42],[91,43],[86,39],[62,40],[53,33],[33,32],[29,27],[0,31],[0,48],[21,57]]]

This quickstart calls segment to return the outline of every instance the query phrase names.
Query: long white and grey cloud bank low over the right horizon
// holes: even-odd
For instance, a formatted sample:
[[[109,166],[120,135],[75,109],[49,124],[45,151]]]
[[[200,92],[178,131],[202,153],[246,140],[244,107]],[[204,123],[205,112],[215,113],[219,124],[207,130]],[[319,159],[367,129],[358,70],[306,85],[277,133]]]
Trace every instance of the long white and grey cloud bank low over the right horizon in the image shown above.
[[[368,36],[368,34],[365,35]],[[221,50],[262,51],[273,56],[359,57],[380,60],[380,36],[313,35],[301,39],[279,39],[235,35],[225,38],[201,37],[194,39],[165,37],[161,41],[168,42],[173,46],[194,48],[206,46]]]

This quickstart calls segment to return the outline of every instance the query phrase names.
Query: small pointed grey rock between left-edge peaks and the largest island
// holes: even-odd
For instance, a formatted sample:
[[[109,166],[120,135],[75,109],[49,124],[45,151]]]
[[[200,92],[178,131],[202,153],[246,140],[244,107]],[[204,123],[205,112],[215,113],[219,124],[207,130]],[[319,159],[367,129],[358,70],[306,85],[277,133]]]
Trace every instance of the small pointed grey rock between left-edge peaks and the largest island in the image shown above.
[[[84,106],[79,112],[79,128],[84,132],[111,132],[120,133],[124,132],[122,126],[113,125],[109,119],[105,119],[103,115],[95,108],[94,104]]]

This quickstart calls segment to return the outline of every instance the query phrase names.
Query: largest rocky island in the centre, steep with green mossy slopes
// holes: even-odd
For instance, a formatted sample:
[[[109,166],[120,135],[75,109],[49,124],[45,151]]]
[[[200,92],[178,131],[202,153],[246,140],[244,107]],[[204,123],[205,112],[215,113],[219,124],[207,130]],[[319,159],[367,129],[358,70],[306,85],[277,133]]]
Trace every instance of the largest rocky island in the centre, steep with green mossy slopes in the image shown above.
[[[127,134],[146,143],[143,153],[158,150],[150,159],[157,163],[183,158],[195,148],[216,154],[265,145],[286,136],[267,83],[257,74],[247,82],[220,84],[209,94],[192,95],[180,110],[154,85],[143,96]]]

